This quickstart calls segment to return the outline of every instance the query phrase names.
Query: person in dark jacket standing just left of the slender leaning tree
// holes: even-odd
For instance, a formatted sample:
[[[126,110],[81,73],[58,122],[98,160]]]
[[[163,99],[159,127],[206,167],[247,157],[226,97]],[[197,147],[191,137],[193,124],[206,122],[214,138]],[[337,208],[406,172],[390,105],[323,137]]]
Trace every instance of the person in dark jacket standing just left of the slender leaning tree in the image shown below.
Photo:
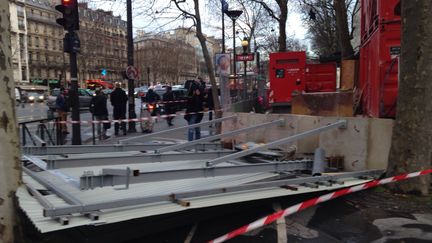
[[[184,118],[187,120],[188,125],[200,123],[203,118],[203,96],[199,86],[192,86],[189,91],[186,105],[186,115]],[[194,139],[194,132],[195,139],[201,138],[200,127],[189,128],[188,141],[192,141]]]

